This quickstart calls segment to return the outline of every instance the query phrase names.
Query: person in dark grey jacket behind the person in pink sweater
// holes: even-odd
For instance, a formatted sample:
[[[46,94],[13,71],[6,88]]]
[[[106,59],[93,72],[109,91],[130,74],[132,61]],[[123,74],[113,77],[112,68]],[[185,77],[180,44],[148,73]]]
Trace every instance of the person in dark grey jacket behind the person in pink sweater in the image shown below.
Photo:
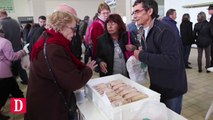
[[[14,52],[22,49],[21,29],[18,22],[11,17],[8,17],[7,11],[0,10],[0,25],[5,33],[5,38],[8,39],[13,46]],[[26,85],[28,83],[27,72],[21,67],[21,60],[13,61],[12,71],[14,76],[20,76],[21,83]]]

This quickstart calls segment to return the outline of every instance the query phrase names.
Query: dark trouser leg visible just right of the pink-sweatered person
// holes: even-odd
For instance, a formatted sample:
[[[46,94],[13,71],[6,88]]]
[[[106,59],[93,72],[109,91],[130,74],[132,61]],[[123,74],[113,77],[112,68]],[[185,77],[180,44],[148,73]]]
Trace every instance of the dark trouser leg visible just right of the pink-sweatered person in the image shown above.
[[[14,76],[18,76],[25,83],[28,82],[27,72],[21,67],[21,60],[14,61],[12,64],[12,71]]]

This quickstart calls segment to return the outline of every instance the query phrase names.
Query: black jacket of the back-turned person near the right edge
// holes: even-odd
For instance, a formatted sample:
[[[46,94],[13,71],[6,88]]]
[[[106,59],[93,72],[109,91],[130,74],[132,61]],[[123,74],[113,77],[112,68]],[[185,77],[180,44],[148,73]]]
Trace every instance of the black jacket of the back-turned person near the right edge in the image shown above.
[[[212,44],[211,24],[208,21],[196,23],[194,32],[198,47],[205,48]]]

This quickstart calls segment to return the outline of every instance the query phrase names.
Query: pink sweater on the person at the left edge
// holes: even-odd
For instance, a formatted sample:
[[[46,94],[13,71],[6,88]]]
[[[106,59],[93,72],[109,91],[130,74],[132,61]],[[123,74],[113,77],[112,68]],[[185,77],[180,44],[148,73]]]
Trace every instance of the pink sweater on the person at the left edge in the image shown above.
[[[9,40],[0,37],[0,78],[12,77],[11,61],[24,56],[24,51],[14,52]]]

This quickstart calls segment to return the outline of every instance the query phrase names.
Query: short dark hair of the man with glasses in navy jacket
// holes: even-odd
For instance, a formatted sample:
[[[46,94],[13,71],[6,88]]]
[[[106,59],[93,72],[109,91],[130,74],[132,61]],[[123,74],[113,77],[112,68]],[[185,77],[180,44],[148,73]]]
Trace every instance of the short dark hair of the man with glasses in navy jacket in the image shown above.
[[[158,3],[155,0],[136,0],[133,7],[142,4],[142,7],[148,11],[150,8],[153,9],[153,13],[151,15],[152,19],[153,18],[158,18]]]

